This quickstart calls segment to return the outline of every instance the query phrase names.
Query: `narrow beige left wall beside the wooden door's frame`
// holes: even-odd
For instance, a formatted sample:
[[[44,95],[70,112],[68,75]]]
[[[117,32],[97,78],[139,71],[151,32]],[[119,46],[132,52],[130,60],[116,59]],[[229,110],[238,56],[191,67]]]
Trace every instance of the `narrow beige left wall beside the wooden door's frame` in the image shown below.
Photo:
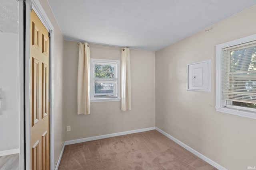
[[[65,141],[64,113],[63,113],[63,53],[64,37],[58,26],[58,23],[52,13],[47,0],[39,0],[47,14],[49,20],[54,26],[54,57],[53,57],[53,96],[54,105],[52,114],[54,115],[54,166],[58,161],[63,143]]]

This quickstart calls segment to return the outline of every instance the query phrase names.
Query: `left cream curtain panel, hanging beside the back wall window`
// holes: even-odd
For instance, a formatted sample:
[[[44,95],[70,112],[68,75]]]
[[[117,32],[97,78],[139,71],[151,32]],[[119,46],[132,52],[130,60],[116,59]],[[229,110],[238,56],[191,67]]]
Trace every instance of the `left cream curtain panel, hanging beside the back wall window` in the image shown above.
[[[78,43],[77,114],[90,114],[90,46]]]

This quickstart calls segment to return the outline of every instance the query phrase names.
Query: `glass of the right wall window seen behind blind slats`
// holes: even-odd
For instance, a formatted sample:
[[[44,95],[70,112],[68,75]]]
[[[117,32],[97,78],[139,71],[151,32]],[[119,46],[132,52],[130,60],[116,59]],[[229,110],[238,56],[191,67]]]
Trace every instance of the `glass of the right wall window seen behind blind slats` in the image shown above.
[[[256,47],[242,48],[230,51],[227,94],[228,98],[233,100],[232,105],[254,108],[256,106]]]

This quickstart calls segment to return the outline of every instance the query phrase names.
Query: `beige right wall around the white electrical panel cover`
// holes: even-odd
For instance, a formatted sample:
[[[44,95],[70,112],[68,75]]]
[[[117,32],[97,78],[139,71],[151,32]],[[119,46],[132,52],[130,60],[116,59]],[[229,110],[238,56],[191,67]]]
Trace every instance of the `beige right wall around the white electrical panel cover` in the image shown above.
[[[215,51],[256,34],[255,16],[253,6],[156,52],[156,127],[230,170],[256,166],[256,120],[215,111]],[[212,93],[186,91],[186,64],[206,59]]]

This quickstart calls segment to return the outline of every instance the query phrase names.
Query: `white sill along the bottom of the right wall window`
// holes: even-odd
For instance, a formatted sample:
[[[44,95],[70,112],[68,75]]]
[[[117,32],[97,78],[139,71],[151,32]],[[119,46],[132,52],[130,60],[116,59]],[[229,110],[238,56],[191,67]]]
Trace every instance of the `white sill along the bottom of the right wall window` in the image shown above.
[[[237,116],[242,116],[242,117],[248,117],[251,119],[256,119],[256,112],[254,111],[244,111],[240,109],[234,109],[234,108],[228,108],[228,107],[217,107],[217,106],[216,106],[216,111],[237,115]]]

